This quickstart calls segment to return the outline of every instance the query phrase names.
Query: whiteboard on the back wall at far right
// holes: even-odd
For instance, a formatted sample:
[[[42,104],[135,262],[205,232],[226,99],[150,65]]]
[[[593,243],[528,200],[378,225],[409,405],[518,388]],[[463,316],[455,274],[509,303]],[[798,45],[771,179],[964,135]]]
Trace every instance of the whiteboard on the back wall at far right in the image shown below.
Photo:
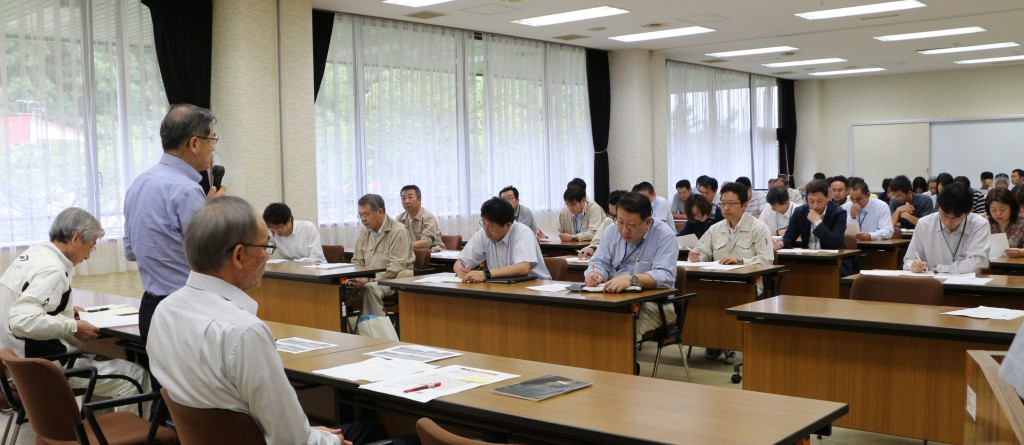
[[[932,176],[967,176],[981,188],[981,172],[1010,174],[1024,169],[1024,119],[933,122]]]

